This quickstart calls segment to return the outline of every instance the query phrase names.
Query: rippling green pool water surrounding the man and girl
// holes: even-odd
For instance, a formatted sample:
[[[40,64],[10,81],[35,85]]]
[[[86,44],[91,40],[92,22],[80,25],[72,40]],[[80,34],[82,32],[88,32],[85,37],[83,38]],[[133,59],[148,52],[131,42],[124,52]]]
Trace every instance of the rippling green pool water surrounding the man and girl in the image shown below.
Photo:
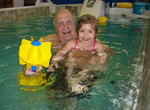
[[[17,74],[23,68],[18,58],[21,40],[30,40],[30,36],[38,40],[55,33],[52,16],[42,14],[23,18],[0,21],[1,110],[136,109],[143,70],[147,20],[111,16],[106,25],[98,25],[98,38],[116,52],[116,55],[107,60],[107,70],[96,73],[99,78],[87,97],[49,98],[46,89],[34,93],[20,90]],[[138,28],[140,31],[137,31]]]

